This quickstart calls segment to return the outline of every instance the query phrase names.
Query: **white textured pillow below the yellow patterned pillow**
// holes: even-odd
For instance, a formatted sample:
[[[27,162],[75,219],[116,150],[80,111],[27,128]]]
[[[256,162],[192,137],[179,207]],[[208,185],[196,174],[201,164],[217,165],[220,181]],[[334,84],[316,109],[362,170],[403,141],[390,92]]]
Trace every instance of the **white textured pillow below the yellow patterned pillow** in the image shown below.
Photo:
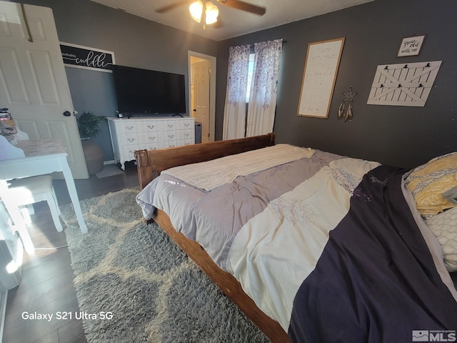
[[[449,272],[457,271],[457,207],[426,219],[426,224],[440,242]]]

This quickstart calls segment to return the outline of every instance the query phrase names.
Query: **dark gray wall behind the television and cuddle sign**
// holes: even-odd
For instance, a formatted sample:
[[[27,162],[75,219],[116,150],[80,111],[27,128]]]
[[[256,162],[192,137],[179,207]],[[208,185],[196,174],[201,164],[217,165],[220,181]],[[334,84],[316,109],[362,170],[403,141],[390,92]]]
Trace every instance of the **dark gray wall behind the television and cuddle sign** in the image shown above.
[[[187,51],[216,56],[217,43],[89,0],[24,0],[50,7],[59,40],[114,52],[116,64],[168,71],[186,76]],[[111,73],[66,67],[74,109],[115,116],[116,97]],[[187,109],[189,115],[189,109]],[[94,141],[104,149],[104,160],[114,159],[108,125]]]

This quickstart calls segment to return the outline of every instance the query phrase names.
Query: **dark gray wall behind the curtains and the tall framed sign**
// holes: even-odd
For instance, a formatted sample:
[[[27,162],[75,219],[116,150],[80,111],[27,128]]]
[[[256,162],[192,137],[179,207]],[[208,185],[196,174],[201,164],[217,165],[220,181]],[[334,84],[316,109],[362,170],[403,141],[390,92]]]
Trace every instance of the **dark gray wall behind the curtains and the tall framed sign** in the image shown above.
[[[283,38],[277,142],[411,168],[457,151],[455,0],[376,0],[221,41],[217,51],[216,139],[222,137],[229,46]],[[403,37],[426,34],[419,56],[396,57]],[[328,119],[297,116],[308,43],[345,37]],[[367,105],[376,66],[443,61],[424,107]],[[353,120],[337,119],[342,93],[358,92]]]

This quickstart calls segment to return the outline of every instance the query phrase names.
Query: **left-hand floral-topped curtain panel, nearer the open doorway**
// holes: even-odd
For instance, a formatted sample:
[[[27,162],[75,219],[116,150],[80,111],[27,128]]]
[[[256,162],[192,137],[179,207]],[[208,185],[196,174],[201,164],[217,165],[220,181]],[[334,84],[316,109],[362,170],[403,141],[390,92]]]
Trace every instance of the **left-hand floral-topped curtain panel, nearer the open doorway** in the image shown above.
[[[229,74],[222,139],[241,138],[246,131],[246,91],[250,51],[250,45],[231,46],[229,49]]]

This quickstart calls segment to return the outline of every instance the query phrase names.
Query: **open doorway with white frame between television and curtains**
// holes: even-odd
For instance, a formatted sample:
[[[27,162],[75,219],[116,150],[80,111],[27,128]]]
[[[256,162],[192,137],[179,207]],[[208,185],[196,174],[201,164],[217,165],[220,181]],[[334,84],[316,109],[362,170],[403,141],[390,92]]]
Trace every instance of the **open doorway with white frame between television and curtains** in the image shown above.
[[[216,57],[194,51],[188,57],[190,116],[201,123],[201,142],[214,141]]]

